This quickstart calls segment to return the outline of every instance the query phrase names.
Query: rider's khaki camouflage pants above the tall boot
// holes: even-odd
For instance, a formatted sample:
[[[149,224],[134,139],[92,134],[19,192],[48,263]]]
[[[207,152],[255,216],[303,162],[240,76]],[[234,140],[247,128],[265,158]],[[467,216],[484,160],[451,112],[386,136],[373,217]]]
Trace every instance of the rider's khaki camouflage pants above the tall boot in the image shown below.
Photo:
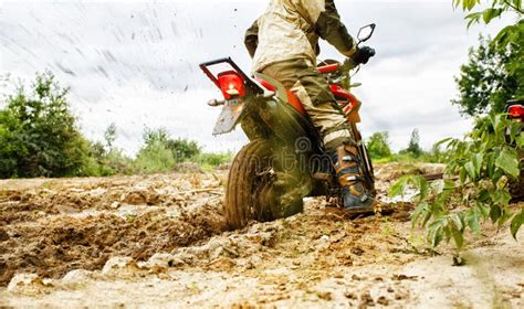
[[[327,150],[352,142],[346,117],[336,105],[327,81],[307,60],[291,60],[272,64],[261,72],[292,89],[302,102],[313,125],[324,139]]]

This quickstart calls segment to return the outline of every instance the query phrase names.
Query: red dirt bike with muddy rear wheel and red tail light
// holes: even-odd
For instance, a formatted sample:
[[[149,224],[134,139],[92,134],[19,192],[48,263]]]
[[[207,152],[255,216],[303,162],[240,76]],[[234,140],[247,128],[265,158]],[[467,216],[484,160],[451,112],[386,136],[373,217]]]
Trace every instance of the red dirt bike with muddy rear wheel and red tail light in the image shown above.
[[[375,24],[363,26],[358,44],[369,40]],[[223,106],[213,135],[230,132],[237,125],[249,138],[232,161],[224,212],[230,228],[241,228],[250,221],[266,222],[303,211],[303,198],[326,196],[337,201],[342,194],[322,138],[307,117],[297,96],[273,78],[260,73],[248,76],[231,58],[200,64],[219,87]],[[317,66],[329,82],[337,104],[347,116],[363,158],[365,185],[375,192],[375,178],[357,124],[360,102],[349,93],[349,72],[359,68],[350,61],[324,61]],[[358,71],[357,71],[358,72]]]

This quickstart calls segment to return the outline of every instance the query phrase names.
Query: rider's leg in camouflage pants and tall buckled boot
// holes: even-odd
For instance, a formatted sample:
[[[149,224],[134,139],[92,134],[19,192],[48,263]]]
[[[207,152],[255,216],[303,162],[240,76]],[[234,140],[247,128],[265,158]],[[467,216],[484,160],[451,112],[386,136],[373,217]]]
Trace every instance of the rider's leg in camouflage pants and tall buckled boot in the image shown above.
[[[336,106],[327,81],[305,60],[273,64],[262,72],[293,88],[324,139],[344,192],[344,206],[354,213],[371,210],[373,198],[363,185],[363,162],[346,117]]]

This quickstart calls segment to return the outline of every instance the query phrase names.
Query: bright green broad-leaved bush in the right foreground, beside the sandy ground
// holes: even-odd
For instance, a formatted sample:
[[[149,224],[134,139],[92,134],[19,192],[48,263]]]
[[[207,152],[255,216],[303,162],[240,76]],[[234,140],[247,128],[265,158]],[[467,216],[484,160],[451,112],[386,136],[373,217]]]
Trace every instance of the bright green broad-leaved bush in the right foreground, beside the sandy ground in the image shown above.
[[[511,222],[511,233],[516,237],[524,223],[524,209],[510,211],[509,180],[518,178],[523,168],[517,159],[517,151],[524,148],[520,126],[503,114],[481,119],[464,140],[442,141],[450,153],[447,179],[430,184],[420,175],[407,175],[390,188],[390,195],[404,194],[407,187],[419,191],[411,220],[413,226],[420,224],[427,228],[431,246],[437,247],[442,241],[453,242],[455,260],[461,260],[467,230],[480,235],[481,225],[488,220],[499,227]],[[506,129],[516,148],[506,142]],[[457,181],[453,175],[458,175]]]

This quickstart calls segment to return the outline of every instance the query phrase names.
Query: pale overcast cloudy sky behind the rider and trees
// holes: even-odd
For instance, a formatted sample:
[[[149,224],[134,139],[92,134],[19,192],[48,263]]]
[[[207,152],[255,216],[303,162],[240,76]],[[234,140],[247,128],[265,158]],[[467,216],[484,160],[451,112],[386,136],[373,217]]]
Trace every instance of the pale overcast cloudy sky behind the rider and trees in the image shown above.
[[[74,113],[92,140],[115,122],[117,143],[129,153],[146,127],[165,127],[207,150],[237,150],[245,141],[240,130],[211,136],[220,110],[206,102],[220,93],[198,64],[231,56],[250,71],[243,33],[268,2],[0,0],[0,75],[11,81],[0,82],[0,93],[50,70],[71,87]],[[426,148],[469,129],[450,104],[453,76],[479,33],[495,33],[503,22],[467,30],[451,2],[336,1],[352,33],[377,23],[368,42],[377,56],[355,77],[363,83],[355,94],[364,102],[365,136],[387,130],[398,150],[415,128]],[[321,57],[342,60],[321,46]]]

